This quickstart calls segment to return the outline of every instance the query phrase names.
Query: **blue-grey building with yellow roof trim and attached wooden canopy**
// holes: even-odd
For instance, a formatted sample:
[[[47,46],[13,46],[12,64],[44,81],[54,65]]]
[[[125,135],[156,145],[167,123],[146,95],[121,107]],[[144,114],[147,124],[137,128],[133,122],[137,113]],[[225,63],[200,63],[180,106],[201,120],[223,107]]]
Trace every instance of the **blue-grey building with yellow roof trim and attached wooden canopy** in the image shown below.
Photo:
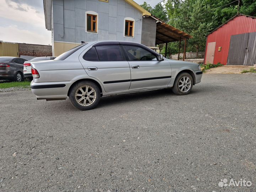
[[[43,0],[53,55],[81,41],[132,41],[156,44],[191,38],[143,9],[133,0]]]

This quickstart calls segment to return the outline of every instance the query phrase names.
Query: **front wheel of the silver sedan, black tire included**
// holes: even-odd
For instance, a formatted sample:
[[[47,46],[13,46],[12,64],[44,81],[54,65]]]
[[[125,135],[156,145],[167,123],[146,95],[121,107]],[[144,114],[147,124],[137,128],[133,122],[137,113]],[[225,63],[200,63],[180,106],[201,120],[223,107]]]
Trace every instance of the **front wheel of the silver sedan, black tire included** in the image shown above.
[[[182,83],[184,81],[184,79],[186,80],[187,78],[190,79],[190,84]],[[179,87],[181,87],[181,88],[179,88]],[[179,74],[176,77],[176,79],[174,81],[174,86],[172,87],[172,92],[174,92],[176,95],[187,95],[192,90],[192,87],[193,87],[193,78],[192,78],[192,76],[189,73],[184,72],[184,73]]]

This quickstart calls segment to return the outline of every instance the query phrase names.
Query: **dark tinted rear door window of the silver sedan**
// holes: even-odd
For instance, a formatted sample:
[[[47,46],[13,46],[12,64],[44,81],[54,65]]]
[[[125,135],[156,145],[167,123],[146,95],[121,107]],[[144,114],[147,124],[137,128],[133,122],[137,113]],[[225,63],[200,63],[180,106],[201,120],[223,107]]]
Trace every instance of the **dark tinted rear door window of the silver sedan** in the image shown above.
[[[96,46],[97,55],[100,61],[123,61],[119,45]]]

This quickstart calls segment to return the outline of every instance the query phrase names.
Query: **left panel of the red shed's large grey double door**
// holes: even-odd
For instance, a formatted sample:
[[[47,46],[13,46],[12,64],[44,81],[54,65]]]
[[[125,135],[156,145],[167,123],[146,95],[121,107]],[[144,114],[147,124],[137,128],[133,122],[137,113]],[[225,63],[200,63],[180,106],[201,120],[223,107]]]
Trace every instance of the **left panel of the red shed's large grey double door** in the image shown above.
[[[249,33],[231,36],[227,65],[244,65],[248,38]]]

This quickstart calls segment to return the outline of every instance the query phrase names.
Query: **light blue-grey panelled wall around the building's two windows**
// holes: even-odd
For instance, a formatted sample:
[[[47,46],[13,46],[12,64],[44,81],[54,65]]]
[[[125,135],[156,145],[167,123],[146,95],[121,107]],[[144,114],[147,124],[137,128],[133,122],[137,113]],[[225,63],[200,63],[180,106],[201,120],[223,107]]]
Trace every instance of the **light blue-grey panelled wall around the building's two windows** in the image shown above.
[[[64,9],[63,9],[64,8]],[[85,29],[86,11],[98,13],[98,34]],[[124,18],[135,20],[134,38],[124,37]],[[64,31],[63,31],[64,29]],[[141,42],[142,13],[124,0],[53,0],[54,41],[119,40]]]

